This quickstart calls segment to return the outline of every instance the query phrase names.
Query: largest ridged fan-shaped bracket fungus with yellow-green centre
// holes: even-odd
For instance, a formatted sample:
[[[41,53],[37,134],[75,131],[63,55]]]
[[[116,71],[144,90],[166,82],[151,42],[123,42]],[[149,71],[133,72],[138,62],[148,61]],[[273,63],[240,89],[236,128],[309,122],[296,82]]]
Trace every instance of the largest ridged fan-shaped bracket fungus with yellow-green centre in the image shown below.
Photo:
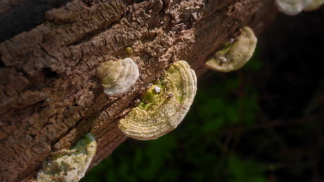
[[[177,61],[143,93],[141,103],[118,121],[118,128],[134,139],[157,139],[181,123],[196,90],[195,71],[186,61]]]

